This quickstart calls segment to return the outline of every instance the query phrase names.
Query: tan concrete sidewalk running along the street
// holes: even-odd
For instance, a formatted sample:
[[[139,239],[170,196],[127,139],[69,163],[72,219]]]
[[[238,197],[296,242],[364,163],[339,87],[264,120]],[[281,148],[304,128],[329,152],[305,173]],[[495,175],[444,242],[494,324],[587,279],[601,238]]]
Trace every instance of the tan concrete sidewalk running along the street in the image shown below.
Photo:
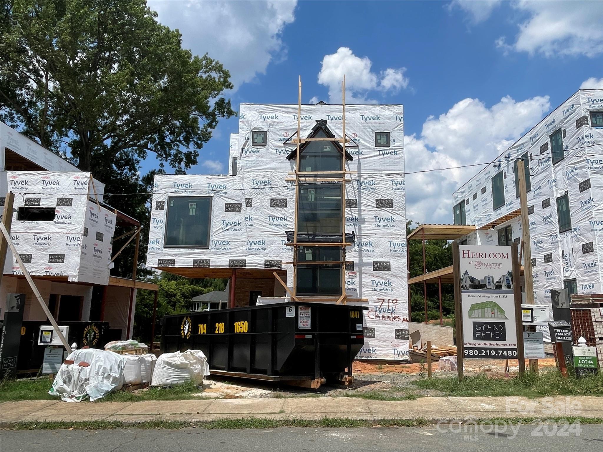
[[[0,422],[19,421],[212,421],[220,418],[270,419],[486,419],[603,418],[603,397],[423,397],[377,401],[356,397],[238,398],[140,402],[66,403],[29,400],[0,404]]]

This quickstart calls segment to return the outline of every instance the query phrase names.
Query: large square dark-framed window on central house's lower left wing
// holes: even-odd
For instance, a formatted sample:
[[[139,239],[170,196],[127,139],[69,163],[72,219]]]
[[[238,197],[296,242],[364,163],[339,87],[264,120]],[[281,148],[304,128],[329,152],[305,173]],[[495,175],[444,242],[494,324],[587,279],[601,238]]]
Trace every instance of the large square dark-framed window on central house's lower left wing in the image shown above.
[[[169,196],[165,248],[209,248],[211,196]]]

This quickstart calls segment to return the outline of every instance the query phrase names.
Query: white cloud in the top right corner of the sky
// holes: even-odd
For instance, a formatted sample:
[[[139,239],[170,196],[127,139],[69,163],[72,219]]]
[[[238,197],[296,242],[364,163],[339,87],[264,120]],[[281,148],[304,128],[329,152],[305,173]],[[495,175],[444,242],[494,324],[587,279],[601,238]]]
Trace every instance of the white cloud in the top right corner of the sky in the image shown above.
[[[603,52],[603,6],[600,1],[520,1],[513,4],[525,22],[512,45],[504,37],[496,45],[505,52],[514,49],[545,57],[586,55]]]

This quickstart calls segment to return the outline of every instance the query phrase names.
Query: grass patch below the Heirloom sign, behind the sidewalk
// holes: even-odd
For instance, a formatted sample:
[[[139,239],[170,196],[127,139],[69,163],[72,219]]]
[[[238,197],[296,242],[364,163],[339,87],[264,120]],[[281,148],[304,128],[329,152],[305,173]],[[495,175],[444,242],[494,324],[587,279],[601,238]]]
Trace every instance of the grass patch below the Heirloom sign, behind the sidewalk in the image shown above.
[[[420,389],[433,389],[448,396],[603,395],[603,372],[583,378],[563,378],[556,369],[526,372],[524,377],[488,378],[485,374],[464,377],[426,378],[412,382]]]

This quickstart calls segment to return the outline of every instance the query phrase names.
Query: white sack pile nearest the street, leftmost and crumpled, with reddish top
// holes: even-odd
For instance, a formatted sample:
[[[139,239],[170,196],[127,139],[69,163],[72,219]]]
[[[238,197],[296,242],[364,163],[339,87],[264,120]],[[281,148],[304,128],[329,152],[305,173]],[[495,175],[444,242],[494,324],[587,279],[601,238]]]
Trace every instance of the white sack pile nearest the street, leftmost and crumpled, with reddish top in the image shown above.
[[[112,351],[86,348],[75,350],[67,357],[73,364],[63,363],[52,382],[50,395],[58,395],[66,402],[79,402],[90,397],[95,401],[114,389],[121,389],[125,359]],[[89,366],[80,366],[88,363]]]

